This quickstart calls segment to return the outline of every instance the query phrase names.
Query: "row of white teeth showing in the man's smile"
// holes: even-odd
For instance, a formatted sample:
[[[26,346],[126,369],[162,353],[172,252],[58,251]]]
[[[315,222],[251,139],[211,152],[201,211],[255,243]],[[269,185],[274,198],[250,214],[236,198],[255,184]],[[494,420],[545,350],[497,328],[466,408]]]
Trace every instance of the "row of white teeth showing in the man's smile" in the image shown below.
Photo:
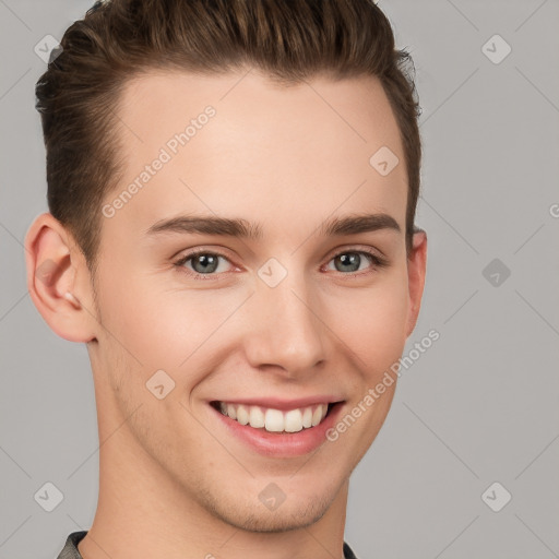
[[[218,401],[210,403],[217,412],[240,425],[277,435],[299,432],[317,427],[337,404],[340,402],[313,404],[282,411],[272,407]]]

